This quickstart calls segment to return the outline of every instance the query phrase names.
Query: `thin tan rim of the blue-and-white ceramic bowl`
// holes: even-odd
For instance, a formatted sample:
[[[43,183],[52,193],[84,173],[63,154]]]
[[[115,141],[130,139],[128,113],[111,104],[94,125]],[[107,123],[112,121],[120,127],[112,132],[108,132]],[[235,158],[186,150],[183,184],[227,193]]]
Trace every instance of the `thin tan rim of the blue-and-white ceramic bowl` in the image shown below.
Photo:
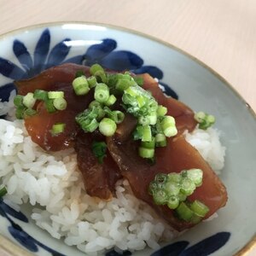
[[[117,32],[126,32],[129,34],[137,35],[141,38],[148,38],[149,40],[152,40],[158,44],[163,44],[167,46],[168,48],[174,49],[177,52],[181,53],[182,55],[187,56],[190,60],[195,61],[198,65],[201,67],[204,67],[207,69],[208,72],[212,73],[213,76],[215,76],[217,79],[219,79],[221,82],[223,82],[232,92],[236,94],[236,96],[240,99],[240,101],[245,105],[249,113],[253,116],[253,119],[256,121],[256,110],[254,111],[253,108],[246,102],[246,100],[241,96],[241,94],[228,82],[222,75],[220,75],[218,72],[212,69],[212,67],[209,67],[205,62],[201,61],[194,55],[189,54],[189,52],[177,47],[174,44],[168,43],[160,38],[155,38],[154,36],[151,36],[144,32],[139,32],[137,30],[127,28],[124,26],[115,26],[108,23],[102,23],[102,22],[93,22],[93,21],[73,21],[73,20],[67,20],[67,21],[51,21],[51,22],[44,22],[44,23],[38,23],[35,25],[30,26],[22,26],[19,28],[16,28],[14,30],[11,30],[9,32],[4,32],[3,34],[0,34],[0,41],[4,38],[8,38],[9,36],[17,35],[21,32],[26,32],[30,30],[34,30],[37,28],[43,28],[43,27],[53,27],[53,26],[63,26],[63,25],[88,25],[88,26],[104,26],[108,29],[115,30]],[[3,249],[4,253],[12,253],[13,256],[20,256],[20,255],[32,255],[31,253],[28,253],[25,251],[22,247],[15,244],[15,242],[10,241],[9,238],[6,238],[0,234],[0,249]],[[6,245],[6,246],[5,246]],[[256,249],[256,235],[254,235],[247,244],[244,245],[244,247],[241,248],[239,252],[234,254],[234,256],[246,256],[248,253],[252,252],[253,249]],[[26,252],[26,254],[24,254]],[[7,255],[9,256],[9,254]]]

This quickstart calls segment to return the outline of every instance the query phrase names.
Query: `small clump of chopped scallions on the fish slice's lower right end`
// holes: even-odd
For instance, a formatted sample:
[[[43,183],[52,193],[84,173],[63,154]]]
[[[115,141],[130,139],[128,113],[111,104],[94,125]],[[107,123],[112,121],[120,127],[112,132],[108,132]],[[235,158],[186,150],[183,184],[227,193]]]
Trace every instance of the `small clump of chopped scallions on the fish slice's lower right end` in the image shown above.
[[[143,144],[145,149],[153,147],[152,144]],[[149,183],[148,193],[153,196],[154,203],[166,205],[175,210],[177,217],[185,221],[197,222],[204,218],[209,211],[201,201],[187,201],[187,197],[201,186],[201,169],[184,170],[180,173],[158,173]]]

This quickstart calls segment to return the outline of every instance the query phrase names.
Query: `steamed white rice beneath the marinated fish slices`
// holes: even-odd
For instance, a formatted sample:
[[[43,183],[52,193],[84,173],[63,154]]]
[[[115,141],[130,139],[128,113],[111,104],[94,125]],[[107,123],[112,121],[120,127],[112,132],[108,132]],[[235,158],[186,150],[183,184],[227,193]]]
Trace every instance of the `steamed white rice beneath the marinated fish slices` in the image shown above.
[[[7,104],[0,102],[0,110],[7,113],[13,108]],[[219,172],[224,166],[224,148],[218,131],[195,130],[185,136]],[[30,203],[32,219],[40,228],[90,255],[113,247],[155,249],[160,241],[177,236],[147,204],[132,195],[126,180],[116,184],[112,201],[87,195],[74,150],[47,154],[32,142],[22,120],[0,119],[0,183],[7,187],[7,203]]]

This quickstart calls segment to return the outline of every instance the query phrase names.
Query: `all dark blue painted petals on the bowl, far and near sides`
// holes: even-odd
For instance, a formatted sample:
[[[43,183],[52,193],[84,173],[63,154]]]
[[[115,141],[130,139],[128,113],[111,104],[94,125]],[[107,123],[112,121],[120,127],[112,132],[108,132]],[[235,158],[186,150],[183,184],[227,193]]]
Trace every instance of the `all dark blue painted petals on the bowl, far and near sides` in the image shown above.
[[[20,40],[15,39],[13,42],[13,52],[17,60],[20,62],[20,67],[18,67],[14,62],[0,56],[0,73],[12,80],[28,79],[38,73],[41,73],[46,68],[60,65],[62,63],[73,62],[87,66],[99,63],[105,68],[117,71],[130,70],[133,73],[149,73],[151,76],[159,80],[164,76],[163,72],[158,67],[143,66],[143,59],[131,51],[116,50],[117,42],[112,38],[104,38],[102,39],[102,43],[90,45],[84,54],[75,55],[69,59],[67,59],[67,55],[71,46],[67,44],[67,42],[72,39],[64,38],[61,42],[55,44],[55,46],[50,49],[50,38],[51,35],[47,28],[38,38],[38,43],[36,44],[33,55],[28,52],[25,44]],[[163,90],[167,95],[177,98],[177,93],[174,90],[166,84],[161,84],[163,85]],[[9,84],[3,84],[3,86],[0,87],[2,101],[7,101],[10,91],[14,89],[15,85],[12,82]],[[9,207],[1,198],[0,215],[9,221],[9,234],[13,236],[21,246],[26,247],[27,250],[32,253],[37,253],[38,247],[41,247],[52,255],[64,255],[45,246],[42,242],[33,238],[32,235],[27,234],[19,224],[15,223],[15,219],[18,219],[23,223],[28,223],[26,215],[22,212],[15,211],[12,207]],[[216,252],[220,247],[223,247],[229,239],[230,232],[218,232],[217,234],[209,236],[192,246],[189,245],[189,241],[176,241],[166,247],[160,248],[158,251],[152,253],[151,256],[209,255],[210,253]],[[112,250],[106,253],[106,256],[131,254],[132,253],[129,251],[117,253]]]

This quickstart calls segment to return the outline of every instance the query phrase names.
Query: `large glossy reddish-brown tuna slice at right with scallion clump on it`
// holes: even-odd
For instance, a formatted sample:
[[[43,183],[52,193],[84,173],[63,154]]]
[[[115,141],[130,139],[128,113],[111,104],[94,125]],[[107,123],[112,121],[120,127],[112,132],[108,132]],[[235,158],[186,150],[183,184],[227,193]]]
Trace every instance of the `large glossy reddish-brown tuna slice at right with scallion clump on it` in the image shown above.
[[[203,183],[195,189],[189,200],[197,199],[209,208],[207,217],[224,207],[227,193],[224,184],[212,171],[211,167],[201,157],[201,154],[185,141],[183,137],[168,139],[166,148],[155,149],[155,163],[151,165],[147,160],[137,154],[137,142],[126,137],[129,118],[119,125],[118,133],[108,137],[108,150],[119,165],[121,174],[126,177],[131,189],[137,198],[146,201],[162,218],[165,218],[173,228],[185,230],[194,223],[177,218],[174,212],[166,207],[154,204],[152,196],[148,193],[148,186],[158,173],[181,172],[190,168],[200,168],[203,171]],[[131,131],[130,131],[131,132]],[[126,140],[122,137],[125,135]]]

